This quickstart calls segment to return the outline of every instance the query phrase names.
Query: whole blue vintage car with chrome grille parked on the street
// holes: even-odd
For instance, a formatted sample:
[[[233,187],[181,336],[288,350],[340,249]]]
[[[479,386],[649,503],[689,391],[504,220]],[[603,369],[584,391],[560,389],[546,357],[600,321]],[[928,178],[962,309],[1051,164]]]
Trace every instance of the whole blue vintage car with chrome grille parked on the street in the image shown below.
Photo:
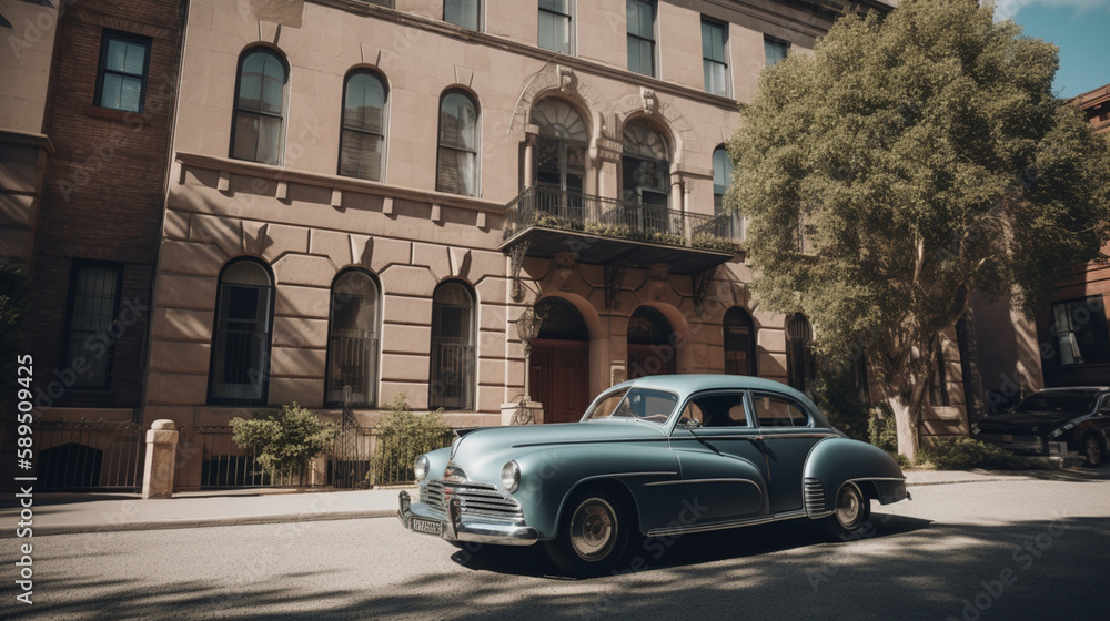
[[[885,451],[829,425],[801,393],[727,375],[663,375],[602,393],[579,423],[480,429],[415,464],[415,532],[462,544],[542,541],[563,570],[610,569],[630,538],[778,520],[864,528],[909,498]]]

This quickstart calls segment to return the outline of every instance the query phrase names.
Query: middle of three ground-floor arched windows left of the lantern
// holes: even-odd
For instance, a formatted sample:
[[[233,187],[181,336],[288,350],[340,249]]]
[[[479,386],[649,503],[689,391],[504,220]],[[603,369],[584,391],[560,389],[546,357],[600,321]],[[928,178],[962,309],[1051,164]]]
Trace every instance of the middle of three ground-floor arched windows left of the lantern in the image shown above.
[[[370,407],[376,404],[377,292],[377,283],[365,269],[344,269],[332,283],[324,398],[329,407],[343,404],[343,390],[347,386],[351,405]]]

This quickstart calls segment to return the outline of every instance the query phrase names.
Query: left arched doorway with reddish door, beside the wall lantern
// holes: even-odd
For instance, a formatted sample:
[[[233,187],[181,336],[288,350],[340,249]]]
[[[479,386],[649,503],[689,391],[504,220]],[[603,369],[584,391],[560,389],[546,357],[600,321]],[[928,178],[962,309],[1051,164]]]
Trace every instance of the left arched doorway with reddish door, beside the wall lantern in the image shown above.
[[[544,405],[544,423],[574,423],[589,406],[589,329],[561,297],[539,301],[536,312],[544,323],[532,342],[532,398]]]

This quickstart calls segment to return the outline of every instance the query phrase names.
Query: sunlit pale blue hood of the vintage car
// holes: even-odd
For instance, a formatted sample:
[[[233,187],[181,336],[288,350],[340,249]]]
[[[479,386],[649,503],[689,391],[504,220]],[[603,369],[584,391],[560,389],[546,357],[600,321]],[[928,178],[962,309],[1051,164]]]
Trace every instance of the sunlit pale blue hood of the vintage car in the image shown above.
[[[490,427],[460,438],[451,461],[471,480],[496,482],[506,461],[535,450],[606,441],[657,440],[666,435],[666,428],[659,425],[632,420]]]

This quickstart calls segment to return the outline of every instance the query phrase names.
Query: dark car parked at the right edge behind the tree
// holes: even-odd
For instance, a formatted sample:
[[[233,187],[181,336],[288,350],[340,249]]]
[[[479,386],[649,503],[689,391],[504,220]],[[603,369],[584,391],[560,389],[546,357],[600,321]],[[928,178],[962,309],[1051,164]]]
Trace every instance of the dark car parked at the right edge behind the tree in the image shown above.
[[[980,420],[975,432],[1018,455],[1078,454],[1087,466],[1099,466],[1110,444],[1110,386],[1039,390],[1010,411]]]

